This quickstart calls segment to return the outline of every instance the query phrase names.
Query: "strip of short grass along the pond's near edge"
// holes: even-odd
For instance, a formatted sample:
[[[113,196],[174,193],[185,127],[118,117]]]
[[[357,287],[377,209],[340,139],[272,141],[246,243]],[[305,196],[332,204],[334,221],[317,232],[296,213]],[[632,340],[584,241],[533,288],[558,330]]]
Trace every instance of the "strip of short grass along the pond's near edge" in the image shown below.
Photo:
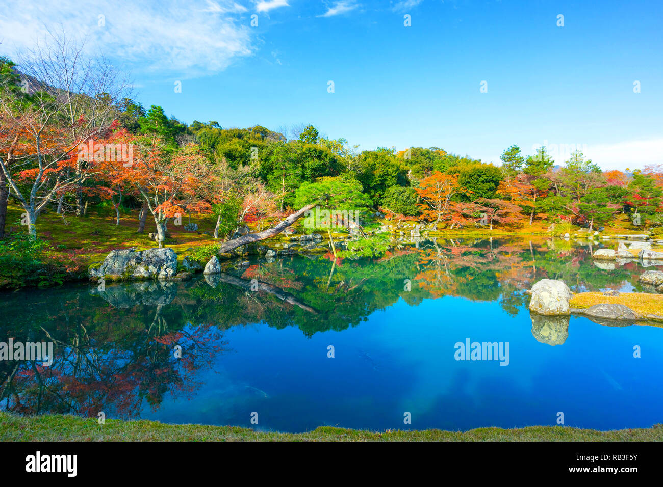
[[[495,427],[469,431],[364,431],[318,427],[306,433],[253,431],[234,426],[168,425],[156,421],[71,415],[18,416],[0,413],[2,441],[663,441],[663,425],[596,431],[563,426]]]

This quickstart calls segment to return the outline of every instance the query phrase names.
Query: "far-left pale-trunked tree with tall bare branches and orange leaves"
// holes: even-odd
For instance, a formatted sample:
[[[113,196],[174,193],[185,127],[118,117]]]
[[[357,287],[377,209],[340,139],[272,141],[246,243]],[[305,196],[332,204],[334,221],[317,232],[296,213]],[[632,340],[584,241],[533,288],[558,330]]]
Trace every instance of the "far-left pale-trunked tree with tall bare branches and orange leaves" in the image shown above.
[[[17,76],[6,70],[0,76],[0,180],[23,207],[21,223],[36,239],[37,217],[65,193],[76,194],[82,213],[84,182],[94,168],[72,154],[79,144],[105,136],[129,83],[64,33],[37,40],[17,67],[24,75],[21,89]]]

